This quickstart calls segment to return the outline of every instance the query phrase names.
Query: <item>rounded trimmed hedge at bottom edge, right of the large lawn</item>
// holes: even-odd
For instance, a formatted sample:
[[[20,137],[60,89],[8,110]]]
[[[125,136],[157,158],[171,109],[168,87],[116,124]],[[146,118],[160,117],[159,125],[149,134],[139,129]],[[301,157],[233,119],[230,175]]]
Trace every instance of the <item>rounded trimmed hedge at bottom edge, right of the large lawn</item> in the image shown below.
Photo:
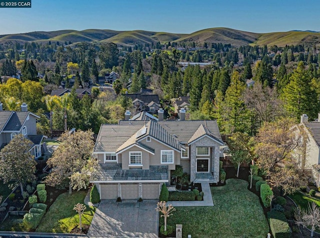
[[[291,237],[289,224],[282,212],[272,210],[267,212],[267,217],[274,238]]]

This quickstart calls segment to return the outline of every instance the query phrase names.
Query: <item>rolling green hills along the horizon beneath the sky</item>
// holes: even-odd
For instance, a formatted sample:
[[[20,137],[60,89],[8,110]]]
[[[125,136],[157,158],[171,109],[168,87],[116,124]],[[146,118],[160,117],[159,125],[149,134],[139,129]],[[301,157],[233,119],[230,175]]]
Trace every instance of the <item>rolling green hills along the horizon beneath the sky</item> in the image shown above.
[[[240,45],[319,45],[320,33],[311,30],[291,30],[286,32],[254,33],[237,29],[215,27],[198,30],[189,34],[156,32],[146,30],[110,30],[110,29],[85,29],[85,30],[55,30],[55,31],[33,31],[19,34],[0,35],[0,43],[8,41],[80,41],[88,42],[114,42],[118,45],[133,45],[137,43],[155,43],[160,41],[195,41],[198,44],[224,43],[234,46]]]

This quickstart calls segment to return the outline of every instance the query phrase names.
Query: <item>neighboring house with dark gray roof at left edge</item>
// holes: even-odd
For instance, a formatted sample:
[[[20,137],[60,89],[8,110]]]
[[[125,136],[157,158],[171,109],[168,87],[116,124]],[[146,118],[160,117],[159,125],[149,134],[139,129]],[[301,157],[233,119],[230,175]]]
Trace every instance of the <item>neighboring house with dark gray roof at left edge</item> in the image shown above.
[[[16,134],[23,134],[32,142],[30,153],[34,158],[41,156],[43,135],[36,134],[36,119],[40,118],[27,110],[23,102],[21,111],[3,110],[0,103],[0,150],[10,142]]]

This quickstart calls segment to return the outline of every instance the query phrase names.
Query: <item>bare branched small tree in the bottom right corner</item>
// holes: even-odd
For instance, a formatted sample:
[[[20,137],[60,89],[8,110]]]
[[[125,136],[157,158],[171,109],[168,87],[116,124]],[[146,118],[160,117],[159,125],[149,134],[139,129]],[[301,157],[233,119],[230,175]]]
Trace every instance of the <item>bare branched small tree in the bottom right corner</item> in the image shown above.
[[[309,203],[306,210],[302,210],[299,206],[294,213],[294,218],[296,224],[302,225],[304,228],[310,227],[310,237],[313,237],[313,231],[316,227],[320,228],[320,209],[314,202]]]

